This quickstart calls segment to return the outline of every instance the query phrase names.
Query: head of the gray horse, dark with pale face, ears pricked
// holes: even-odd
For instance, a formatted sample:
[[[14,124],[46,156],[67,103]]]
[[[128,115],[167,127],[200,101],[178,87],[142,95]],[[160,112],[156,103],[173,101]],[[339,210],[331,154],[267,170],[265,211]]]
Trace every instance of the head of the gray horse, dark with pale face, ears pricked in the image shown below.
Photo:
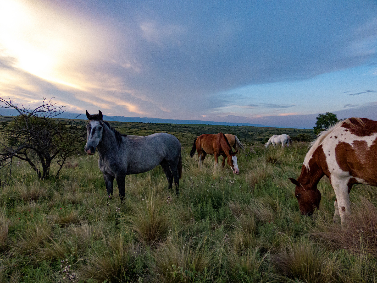
[[[93,155],[98,144],[102,141],[103,115],[101,111],[94,115],[90,115],[86,111],[86,117],[89,119],[89,123],[86,125],[87,141],[84,151],[88,155]]]

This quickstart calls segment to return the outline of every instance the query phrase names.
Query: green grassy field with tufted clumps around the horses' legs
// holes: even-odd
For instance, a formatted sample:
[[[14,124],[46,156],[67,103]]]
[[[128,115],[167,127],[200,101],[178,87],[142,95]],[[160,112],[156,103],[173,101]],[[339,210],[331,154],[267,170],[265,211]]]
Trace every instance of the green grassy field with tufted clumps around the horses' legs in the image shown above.
[[[351,223],[341,227],[324,177],[319,211],[300,215],[288,178],[299,175],[308,143],[265,149],[274,128],[111,124],[125,134],[179,133],[180,195],[157,167],[126,177],[124,203],[116,185],[108,200],[97,154],[46,181],[20,162],[1,188],[0,282],[376,282],[377,190],[352,188]],[[197,135],[218,131],[248,144],[239,175],[213,174],[210,155],[199,171],[197,154],[189,157]]]

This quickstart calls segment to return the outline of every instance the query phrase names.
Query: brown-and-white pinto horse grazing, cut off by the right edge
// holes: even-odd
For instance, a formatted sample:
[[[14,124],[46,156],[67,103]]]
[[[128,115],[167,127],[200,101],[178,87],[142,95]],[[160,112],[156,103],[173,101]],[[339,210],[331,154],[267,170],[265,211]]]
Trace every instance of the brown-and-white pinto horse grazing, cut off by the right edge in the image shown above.
[[[305,156],[300,177],[290,178],[301,214],[310,215],[319,208],[321,194],[317,184],[326,175],[333,186],[334,222],[342,224],[350,213],[349,192],[354,184],[377,186],[377,122],[366,118],[348,118],[319,134]]]

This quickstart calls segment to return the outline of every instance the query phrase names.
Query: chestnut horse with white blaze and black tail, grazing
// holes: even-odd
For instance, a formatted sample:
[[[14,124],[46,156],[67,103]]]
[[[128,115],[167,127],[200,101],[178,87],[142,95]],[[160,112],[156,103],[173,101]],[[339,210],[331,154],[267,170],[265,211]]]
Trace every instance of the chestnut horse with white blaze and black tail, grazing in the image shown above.
[[[205,155],[210,154],[215,156],[215,172],[218,165],[218,158],[222,156],[222,167],[225,165],[225,158],[228,157],[228,165],[232,168],[233,173],[239,174],[239,169],[237,165],[236,154],[238,151],[232,152],[230,144],[223,133],[218,133],[217,135],[212,134],[202,134],[195,138],[194,144],[192,146],[190,157],[193,157],[195,150],[198,151],[199,155],[199,168],[204,161]],[[215,173],[213,172],[213,173]]]

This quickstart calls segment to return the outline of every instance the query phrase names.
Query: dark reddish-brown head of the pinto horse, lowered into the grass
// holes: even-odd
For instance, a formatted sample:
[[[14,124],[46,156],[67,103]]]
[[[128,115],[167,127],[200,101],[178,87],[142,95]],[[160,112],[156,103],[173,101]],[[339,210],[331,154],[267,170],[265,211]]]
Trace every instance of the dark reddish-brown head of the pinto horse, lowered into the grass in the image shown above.
[[[299,202],[299,207],[302,215],[313,215],[314,209],[319,208],[321,201],[321,193],[317,189],[317,185],[304,184],[302,185],[298,180],[289,178],[289,180],[296,185],[294,195]]]

